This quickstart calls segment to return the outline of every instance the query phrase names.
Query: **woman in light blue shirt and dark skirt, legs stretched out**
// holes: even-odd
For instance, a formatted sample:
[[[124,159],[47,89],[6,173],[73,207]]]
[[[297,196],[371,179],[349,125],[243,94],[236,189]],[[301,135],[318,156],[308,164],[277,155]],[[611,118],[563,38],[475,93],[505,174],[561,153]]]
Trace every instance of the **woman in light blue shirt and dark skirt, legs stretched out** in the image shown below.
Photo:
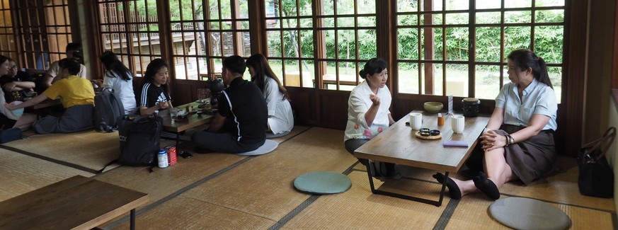
[[[551,172],[558,103],[547,65],[531,50],[513,50],[508,54],[508,79],[496,97],[488,131],[481,134],[481,145],[467,161],[469,168],[479,171],[477,176],[447,178],[453,199],[483,192],[497,200],[498,189],[508,181],[528,185]],[[440,183],[446,178],[441,173],[433,177]]]

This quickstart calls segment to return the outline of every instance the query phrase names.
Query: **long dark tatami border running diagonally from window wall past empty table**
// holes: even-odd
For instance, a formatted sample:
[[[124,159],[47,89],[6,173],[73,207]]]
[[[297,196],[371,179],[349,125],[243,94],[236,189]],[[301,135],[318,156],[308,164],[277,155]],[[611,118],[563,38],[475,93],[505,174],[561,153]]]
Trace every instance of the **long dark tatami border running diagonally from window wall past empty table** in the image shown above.
[[[296,134],[296,135],[294,135],[294,136],[292,136],[292,137],[290,137],[288,139],[285,139],[284,141],[282,141],[279,144],[283,144],[283,143],[287,142],[288,140],[290,140],[290,139],[292,139],[294,137],[297,137],[299,134],[302,134],[304,132],[307,132],[308,130],[311,130],[311,128],[312,127],[309,127],[309,129],[304,130],[302,132],[299,132],[298,134]],[[163,204],[164,202],[167,202],[168,200],[171,200],[174,197],[177,197],[178,195],[183,194],[183,192],[186,192],[186,191],[188,191],[188,190],[190,190],[192,188],[195,188],[198,185],[201,185],[202,183],[206,183],[208,180],[212,180],[212,178],[216,178],[217,176],[219,176],[219,175],[221,175],[221,174],[231,170],[232,168],[236,168],[236,166],[239,166],[239,165],[241,165],[241,164],[243,164],[243,163],[245,163],[247,161],[250,161],[251,159],[256,158],[256,157],[257,156],[247,156],[245,159],[237,161],[236,163],[232,163],[230,166],[227,166],[227,167],[223,168],[222,170],[217,171],[216,173],[212,173],[210,176],[202,178],[202,180],[195,181],[195,183],[187,185],[185,188],[182,188],[181,190],[173,192],[172,194],[164,197],[163,199],[158,200],[156,202],[153,202],[152,204],[148,205],[147,207],[144,207],[142,209],[136,210],[135,216],[138,217],[140,214],[143,214],[144,212],[148,212],[149,210],[154,209],[155,207]],[[107,226],[103,227],[103,229],[113,229],[114,227],[119,226],[120,224],[129,221],[129,218],[130,218],[129,216],[122,217],[122,218],[116,220],[115,222],[113,222],[111,224],[108,224]]]

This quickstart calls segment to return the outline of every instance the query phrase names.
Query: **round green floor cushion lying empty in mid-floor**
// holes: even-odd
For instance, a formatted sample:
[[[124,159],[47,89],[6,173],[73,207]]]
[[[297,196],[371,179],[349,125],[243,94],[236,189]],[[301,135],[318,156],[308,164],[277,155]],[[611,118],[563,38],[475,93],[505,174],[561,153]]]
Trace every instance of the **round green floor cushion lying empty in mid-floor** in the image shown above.
[[[352,186],[352,180],[336,172],[305,173],[294,179],[294,188],[311,194],[333,194],[345,192]]]

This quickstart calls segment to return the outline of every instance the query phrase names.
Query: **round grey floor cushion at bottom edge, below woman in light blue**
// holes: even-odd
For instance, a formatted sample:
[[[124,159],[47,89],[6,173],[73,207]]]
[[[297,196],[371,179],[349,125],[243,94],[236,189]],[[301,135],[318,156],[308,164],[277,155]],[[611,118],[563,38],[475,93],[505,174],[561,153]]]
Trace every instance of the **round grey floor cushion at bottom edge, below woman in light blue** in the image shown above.
[[[509,197],[489,205],[489,214],[513,229],[568,229],[571,219],[554,206],[539,200]]]

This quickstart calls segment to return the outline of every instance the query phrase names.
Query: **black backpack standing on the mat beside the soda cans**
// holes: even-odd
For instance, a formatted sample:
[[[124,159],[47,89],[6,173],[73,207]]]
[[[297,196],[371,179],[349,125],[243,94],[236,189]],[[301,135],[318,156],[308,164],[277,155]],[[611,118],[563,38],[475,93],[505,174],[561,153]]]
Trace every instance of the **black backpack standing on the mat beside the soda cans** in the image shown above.
[[[108,163],[120,163],[125,166],[150,166],[149,171],[157,165],[161,145],[161,117],[140,117],[125,115],[118,117],[118,139],[120,140],[120,155],[118,159]],[[102,168],[98,173],[102,173]]]

